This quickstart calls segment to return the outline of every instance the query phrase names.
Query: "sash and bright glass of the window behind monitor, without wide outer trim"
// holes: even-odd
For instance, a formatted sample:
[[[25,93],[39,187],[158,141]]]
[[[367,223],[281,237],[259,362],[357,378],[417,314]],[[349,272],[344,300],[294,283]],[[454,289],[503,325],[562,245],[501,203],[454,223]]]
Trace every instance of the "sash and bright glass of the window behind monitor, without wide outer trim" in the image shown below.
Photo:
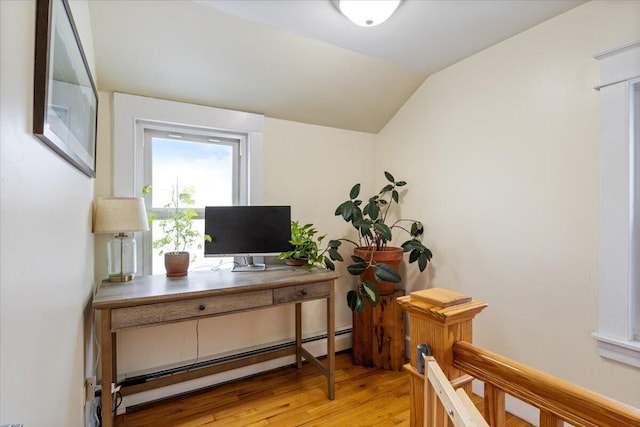
[[[240,192],[241,171],[246,170],[240,153],[246,151],[246,137],[228,132],[184,129],[177,126],[144,125],[144,178],[152,191],[146,198],[147,212],[155,214],[151,238],[145,240],[144,259],[150,260],[152,274],[164,272],[164,259],[151,242],[162,234],[160,221],[170,214],[176,188],[194,190],[195,204],[188,206],[198,215],[194,229],[204,235],[205,206],[246,204]],[[205,259],[202,248],[187,248],[191,270],[210,268],[233,259]]]

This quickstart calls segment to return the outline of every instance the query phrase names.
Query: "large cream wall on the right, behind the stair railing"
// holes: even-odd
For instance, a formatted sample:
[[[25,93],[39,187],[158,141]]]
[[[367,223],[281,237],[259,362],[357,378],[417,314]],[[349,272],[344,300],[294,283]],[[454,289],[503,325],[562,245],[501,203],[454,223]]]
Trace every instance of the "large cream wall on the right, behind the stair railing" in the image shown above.
[[[434,259],[409,288],[489,307],[475,342],[640,407],[598,356],[599,104],[592,55],[640,38],[640,2],[590,2],[430,76],[379,135]]]

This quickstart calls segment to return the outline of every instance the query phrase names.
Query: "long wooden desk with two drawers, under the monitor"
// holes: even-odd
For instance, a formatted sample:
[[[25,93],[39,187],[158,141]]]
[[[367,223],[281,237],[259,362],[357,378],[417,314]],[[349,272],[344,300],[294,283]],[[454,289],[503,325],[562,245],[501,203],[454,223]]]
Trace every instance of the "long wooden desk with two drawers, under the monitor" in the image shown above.
[[[191,272],[186,277],[140,276],[126,283],[104,281],[98,287],[93,306],[100,311],[102,357],[102,425],[113,425],[111,384],[117,381],[116,333],[123,329],[182,322],[212,316],[295,304],[296,345],[273,350],[244,360],[230,361],[198,371],[145,382],[122,389],[124,395],[175,384],[194,377],[247,366],[290,354],[316,366],[327,377],[327,395],[335,397],[334,283],[338,273],[274,268],[259,272]],[[327,364],[302,347],[302,302],[327,300]]]

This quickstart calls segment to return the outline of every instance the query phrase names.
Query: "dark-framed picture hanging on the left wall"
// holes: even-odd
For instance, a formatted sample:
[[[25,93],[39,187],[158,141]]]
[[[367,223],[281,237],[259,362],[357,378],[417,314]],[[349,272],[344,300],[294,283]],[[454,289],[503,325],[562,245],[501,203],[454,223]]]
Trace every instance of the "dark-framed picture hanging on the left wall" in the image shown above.
[[[37,0],[33,133],[96,176],[98,92],[67,0]]]

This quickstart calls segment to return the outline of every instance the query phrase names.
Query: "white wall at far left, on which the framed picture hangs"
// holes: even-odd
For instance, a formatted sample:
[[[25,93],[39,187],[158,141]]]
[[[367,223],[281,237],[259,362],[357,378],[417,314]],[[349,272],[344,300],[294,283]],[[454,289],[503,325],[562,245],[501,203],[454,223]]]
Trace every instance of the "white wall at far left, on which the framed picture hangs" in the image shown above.
[[[31,133],[35,1],[0,2],[0,31],[0,424],[81,426],[93,180]]]

